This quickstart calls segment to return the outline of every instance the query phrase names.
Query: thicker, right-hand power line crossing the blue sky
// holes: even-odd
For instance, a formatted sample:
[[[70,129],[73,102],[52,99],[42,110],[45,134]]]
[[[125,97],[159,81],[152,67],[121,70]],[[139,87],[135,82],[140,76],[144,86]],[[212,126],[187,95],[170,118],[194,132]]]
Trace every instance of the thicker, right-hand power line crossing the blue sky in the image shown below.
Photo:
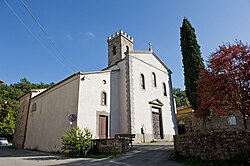
[[[74,68],[71,66],[67,58],[63,55],[62,51],[56,46],[55,42],[52,40],[52,38],[49,36],[49,34],[46,32],[46,30],[42,27],[42,25],[39,23],[39,21],[35,18],[35,16],[31,13],[28,6],[23,2],[23,0],[20,0],[24,8],[27,10],[29,15],[32,17],[32,19],[36,22],[38,27],[41,29],[43,34],[46,36],[46,38],[49,40],[49,42],[53,45],[53,47],[57,50],[57,52],[63,57],[64,61],[68,64],[68,66],[72,69],[72,71],[76,72]]]

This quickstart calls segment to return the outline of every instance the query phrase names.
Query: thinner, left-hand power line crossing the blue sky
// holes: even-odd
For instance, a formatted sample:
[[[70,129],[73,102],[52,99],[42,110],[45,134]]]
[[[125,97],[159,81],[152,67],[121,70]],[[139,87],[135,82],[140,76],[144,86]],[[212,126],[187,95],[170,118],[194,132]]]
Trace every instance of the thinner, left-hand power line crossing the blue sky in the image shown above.
[[[29,31],[29,33],[52,55],[58,62],[60,62],[64,67],[66,67],[68,70],[72,71],[71,68],[69,68],[66,64],[64,64],[56,55],[54,55],[48,47],[46,47],[41,40],[30,30],[30,28],[23,22],[23,20],[17,15],[17,13],[14,11],[14,9],[5,1],[5,4],[9,7],[9,9],[12,11],[12,13],[18,18],[18,20],[24,25],[24,27]]]

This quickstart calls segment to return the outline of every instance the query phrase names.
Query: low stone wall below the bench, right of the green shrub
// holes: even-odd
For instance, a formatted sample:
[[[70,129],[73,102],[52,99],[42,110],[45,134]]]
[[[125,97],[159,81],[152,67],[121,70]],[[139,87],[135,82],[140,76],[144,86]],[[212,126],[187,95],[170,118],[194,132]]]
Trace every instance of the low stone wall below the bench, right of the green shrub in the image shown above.
[[[127,147],[125,139],[94,139],[95,152],[123,152]]]

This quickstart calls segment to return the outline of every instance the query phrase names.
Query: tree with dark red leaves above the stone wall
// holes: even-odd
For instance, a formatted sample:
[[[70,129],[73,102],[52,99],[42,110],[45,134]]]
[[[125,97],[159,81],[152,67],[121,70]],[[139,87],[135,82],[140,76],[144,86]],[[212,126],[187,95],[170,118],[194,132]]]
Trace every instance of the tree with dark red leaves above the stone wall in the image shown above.
[[[208,61],[208,69],[198,80],[200,105],[196,115],[206,118],[215,115],[241,113],[247,129],[250,116],[250,46],[242,42],[222,45]]]

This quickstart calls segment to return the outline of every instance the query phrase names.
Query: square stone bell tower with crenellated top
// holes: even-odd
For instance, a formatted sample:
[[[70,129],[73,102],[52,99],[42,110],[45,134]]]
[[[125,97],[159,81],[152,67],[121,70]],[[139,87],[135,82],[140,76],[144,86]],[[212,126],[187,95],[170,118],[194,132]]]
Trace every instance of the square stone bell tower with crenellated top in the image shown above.
[[[133,38],[120,30],[108,37],[108,66],[126,57],[133,50]]]

